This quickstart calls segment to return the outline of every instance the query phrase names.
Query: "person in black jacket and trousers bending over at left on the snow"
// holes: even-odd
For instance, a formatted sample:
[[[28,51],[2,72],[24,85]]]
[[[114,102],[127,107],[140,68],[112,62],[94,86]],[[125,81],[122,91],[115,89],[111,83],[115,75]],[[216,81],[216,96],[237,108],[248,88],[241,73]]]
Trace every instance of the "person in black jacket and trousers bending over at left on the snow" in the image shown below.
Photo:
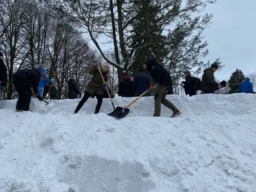
[[[13,74],[13,84],[18,92],[19,99],[16,104],[16,111],[28,111],[31,100],[31,88],[38,100],[43,98],[38,94],[38,83],[47,77],[45,72],[38,72],[37,70],[23,69],[18,70]]]

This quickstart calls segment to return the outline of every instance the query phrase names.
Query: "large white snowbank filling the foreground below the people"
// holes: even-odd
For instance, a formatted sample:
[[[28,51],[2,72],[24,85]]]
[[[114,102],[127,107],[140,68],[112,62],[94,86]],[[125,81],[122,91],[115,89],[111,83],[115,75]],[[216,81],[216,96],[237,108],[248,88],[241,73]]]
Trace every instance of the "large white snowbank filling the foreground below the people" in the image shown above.
[[[115,98],[126,106],[134,98]],[[33,112],[0,102],[0,191],[253,192],[256,95],[168,95],[182,112],[170,118],[141,97],[116,120],[104,99],[31,100]]]

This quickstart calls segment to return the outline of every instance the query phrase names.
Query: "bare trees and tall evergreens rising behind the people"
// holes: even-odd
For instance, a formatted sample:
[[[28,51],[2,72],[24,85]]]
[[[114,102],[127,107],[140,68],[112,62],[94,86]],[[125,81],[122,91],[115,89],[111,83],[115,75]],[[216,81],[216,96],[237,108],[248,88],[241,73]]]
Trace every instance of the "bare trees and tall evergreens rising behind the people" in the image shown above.
[[[109,87],[115,92],[122,74],[134,77],[147,58],[157,58],[178,84],[185,70],[193,75],[211,65],[202,35],[211,14],[202,0],[3,0],[0,51],[8,68],[4,97],[13,99],[12,74],[42,63],[67,98],[67,81],[76,77],[83,92],[92,65],[108,62]],[[95,49],[89,44],[92,42]],[[221,65],[219,58],[216,62]],[[175,90],[174,90],[175,92]]]

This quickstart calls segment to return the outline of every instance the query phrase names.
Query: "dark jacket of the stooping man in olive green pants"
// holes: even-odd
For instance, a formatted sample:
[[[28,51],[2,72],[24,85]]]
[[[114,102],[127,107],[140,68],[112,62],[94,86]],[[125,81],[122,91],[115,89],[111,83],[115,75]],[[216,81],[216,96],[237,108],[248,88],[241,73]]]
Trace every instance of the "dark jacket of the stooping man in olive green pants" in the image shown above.
[[[162,65],[157,63],[156,60],[148,60],[146,62],[147,71],[150,72],[150,75],[154,79],[155,83],[159,85],[170,85],[172,86],[172,77],[170,73]]]

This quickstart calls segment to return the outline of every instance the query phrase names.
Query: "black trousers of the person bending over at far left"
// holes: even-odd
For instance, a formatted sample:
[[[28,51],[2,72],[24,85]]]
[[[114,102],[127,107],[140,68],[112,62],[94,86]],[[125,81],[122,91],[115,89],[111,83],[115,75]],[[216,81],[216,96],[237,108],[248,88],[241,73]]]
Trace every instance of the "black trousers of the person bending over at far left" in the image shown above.
[[[28,111],[31,100],[31,90],[28,79],[20,77],[17,74],[13,74],[13,84],[19,95],[19,99],[17,100],[16,104],[16,109]]]

